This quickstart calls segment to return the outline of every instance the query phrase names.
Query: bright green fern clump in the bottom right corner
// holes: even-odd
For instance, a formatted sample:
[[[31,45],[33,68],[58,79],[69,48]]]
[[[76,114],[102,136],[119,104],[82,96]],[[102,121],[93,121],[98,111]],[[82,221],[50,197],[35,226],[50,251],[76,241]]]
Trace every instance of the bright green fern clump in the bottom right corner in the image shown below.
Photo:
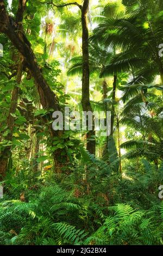
[[[162,209],[162,204],[159,209]],[[102,227],[85,242],[98,242],[99,245],[160,245],[162,223],[161,216],[156,211],[159,209],[146,213],[135,211],[125,204],[111,206],[109,211],[115,214],[107,217]],[[159,225],[155,223],[156,218]]]

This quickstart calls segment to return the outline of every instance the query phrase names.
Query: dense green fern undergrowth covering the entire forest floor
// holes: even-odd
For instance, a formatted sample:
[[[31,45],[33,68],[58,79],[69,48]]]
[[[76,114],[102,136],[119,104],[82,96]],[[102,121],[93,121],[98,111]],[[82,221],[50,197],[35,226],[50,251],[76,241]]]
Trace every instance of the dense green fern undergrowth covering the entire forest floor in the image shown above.
[[[86,191],[82,192],[81,180],[80,186],[77,186],[79,181],[77,172],[73,174],[76,181],[73,180],[73,183],[70,183],[71,186],[74,184],[76,186],[71,190],[67,187],[67,177],[66,180],[62,180],[60,186],[48,180],[37,181],[34,185],[30,182],[27,188],[22,187],[20,199],[10,200],[6,195],[0,204],[0,243],[6,245],[161,245],[163,206],[162,202],[152,197],[153,192],[150,191],[155,187],[154,182],[160,179],[159,175],[162,175],[162,164],[154,181],[154,167],[147,161],[142,162],[146,173],[137,174],[139,178],[137,176],[135,184],[130,186],[125,179],[119,179],[118,185],[108,187],[109,197],[114,195],[115,198],[117,197],[117,202],[120,202],[122,195],[126,193],[130,193],[129,199],[131,199],[131,189],[134,186],[136,188],[136,184],[142,184],[145,200],[139,206],[136,205],[136,200],[139,200],[136,193],[141,192],[141,186],[133,194],[136,200],[131,204],[134,203],[135,206],[130,206],[127,197],[124,203],[108,206],[108,202],[102,200],[106,187],[104,180],[97,185],[98,179],[93,181],[90,177],[91,181],[88,179],[87,182],[93,182],[93,186],[89,186],[90,191],[87,194]],[[98,164],[100,166],[100,163]],[[95,166],[98,164],[96,163]],[[90,165],[89,169],[92,167]],[[103,170],[103,166],[101,167]],[[99,171],[96,176],[98,173]],[[115,174],[112,178],[111,176],[111,174],[106,176],[108,182],[112,178],[115,180]],[[135,178],[135,174],[133,177]],[[72,175],[69,179],[72,179]],[[126,182],[126,188],[124,182]],[[95,198],[92,200],[93,194],[97,191],[95,184],[98,186],[98,194],[96,194],[96,200]],[[99,189],[101,186],[103,186],[103,194]],[[77,188],[80,191],[78,196]],[[117,190],[116,193],[115,190]],[[11,190],[11,192],[10,197],[13,197],[14,191]],[[18,191],[15,190],[15,192],[17,197]],[[144,209],[148,197],[150,206]]]

